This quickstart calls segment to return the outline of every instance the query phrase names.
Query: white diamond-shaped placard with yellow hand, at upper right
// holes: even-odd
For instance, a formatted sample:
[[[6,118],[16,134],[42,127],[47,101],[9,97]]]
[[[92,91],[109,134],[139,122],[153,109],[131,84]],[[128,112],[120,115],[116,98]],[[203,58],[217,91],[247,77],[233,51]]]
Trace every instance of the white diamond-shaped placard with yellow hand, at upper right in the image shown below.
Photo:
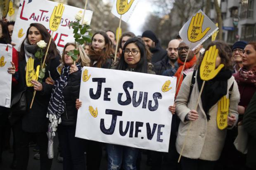
[[[200,9],[180,29],[181,39],[195,50],[205,40],[218,30],[218,27]]]

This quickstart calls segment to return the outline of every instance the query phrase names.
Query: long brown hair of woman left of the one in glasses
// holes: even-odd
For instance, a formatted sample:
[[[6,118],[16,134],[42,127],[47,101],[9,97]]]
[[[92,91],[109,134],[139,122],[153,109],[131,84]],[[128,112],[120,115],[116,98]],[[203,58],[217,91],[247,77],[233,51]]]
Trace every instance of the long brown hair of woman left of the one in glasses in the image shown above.
[[[112,49],[112,43],[109,39],[109,36],[104,31],[98,31],[92,36],[92,41],[95,35],[100,34],[104,37],[105,41],[105,48],[100,51],[95,51],[92,47],[92,44],[90,45],[89,49],[89,57],[91,59],[90,66],[93,66],[93,62],[97,60],[97,68],[101,68],[101,66],[106,63],[107,59],[111,58],[111,54],[114,53]]]

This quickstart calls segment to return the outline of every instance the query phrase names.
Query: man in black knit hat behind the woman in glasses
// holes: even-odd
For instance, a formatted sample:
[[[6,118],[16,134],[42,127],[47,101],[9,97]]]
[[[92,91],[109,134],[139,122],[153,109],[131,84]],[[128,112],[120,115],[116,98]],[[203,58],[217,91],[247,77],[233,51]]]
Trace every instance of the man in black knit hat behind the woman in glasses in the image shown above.
[[[162,49],[159,40],[156,38],[156,35],[152,31],[145,31],[141,37],[142,40],[145,42],[146,46],[153,54],[151,63],[154,64],[158,61],[161,61],[164,58],[164,56],[166,56],[167,51]]]

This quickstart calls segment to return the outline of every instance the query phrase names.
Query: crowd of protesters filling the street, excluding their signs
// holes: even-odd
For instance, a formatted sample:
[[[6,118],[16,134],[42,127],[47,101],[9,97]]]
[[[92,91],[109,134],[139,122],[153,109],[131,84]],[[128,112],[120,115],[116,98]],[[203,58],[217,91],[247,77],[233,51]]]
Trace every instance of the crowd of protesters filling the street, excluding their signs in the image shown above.
[[[256,170],[256,42],[238,41],[231,45],[214,41],[205,48],[209,50],[215,45],[218,49],[215,66],[225,66],[215,78],[205,83],[199,107],[194,109],[203,84],[198,69],[204,57],[202,45],[192,51],[177,37],[166,44],[167,49],[162,49],[160,40],[150,30],[137,37],[131,32],[123,33],[116,44],[115,33],[107,30],[96,32],[91,44],[82,47],[69,42],[63,51],[58,51],[45,26],[31,23],[21,47],[15,47],[11,40],[13,27],[14,22],[0,20],[0,43],[14,45],[12,67],[7,70],[12,74],[12,100],[24,94],[27,108],[21,112],[0,107],[0,163],[2,151],[13,143],[11,168],[26,170],[29,147],[33,142],[39,151],[38,169],[50,170],[52,158],[47,156],[47,115],[55,112],[62,120],[57,135],[61,152],[58,160],[63,161],[63,170],[99,170],[104,148],[107,170],[140,170],[142,154],[146,155],[151,170]],[[40,40],[47,44],[52,41],[46,56],[45,77],[42,82],[32,80],[33,87],[27,87],[26,63],[32,57],[35,70],[40,64],[35,57]],[[116,46],[118,58],[114,63]],[[76,47],[79,56],[73,61],[69,51]],[[17,52],[16,48],[20,51]],[[82,105],[78,99],[83,66],[180,77],[175,104],[166,106],[173,114],[168,153],[75,137],[77,113]],[[37,93],[33,107],[29,109],[34,91]],[[230,100],[230,115],[228,127],[220,130],[216,123],[218,101],[224,95]],[[61,103],[58,109],[55,107],[57,102]],[[237,151],[234,146],[241,125],[248,133],[247,154]],[[11,130],[13,142],[9,141]],[[183,153],[178,163],[181,150]]]

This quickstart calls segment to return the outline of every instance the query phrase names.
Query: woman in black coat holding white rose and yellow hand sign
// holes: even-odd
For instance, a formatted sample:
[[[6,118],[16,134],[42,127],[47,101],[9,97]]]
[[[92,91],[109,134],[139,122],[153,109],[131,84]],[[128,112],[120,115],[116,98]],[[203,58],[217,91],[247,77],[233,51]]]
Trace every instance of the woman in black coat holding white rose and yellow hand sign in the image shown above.
[[[16,115],[16,118],[13,115],[11,118],[17,119],[18,117],[18,121],[14,124],[17,147],[17,169],[26,170],[28,166],[28,144],[31,137],[36,139],[40,149],[40,170],[50,170],[51,168],[52,159],[49,159],[47,156],[48,137],[46,132],[48,130],[48,119],[46,118],[46,114],[53,85],[47,84],[46,79],[50,77],[55,81],[59,78],[57,68],[60,65],[59,51],[53,40],[51,40],[48,55],[46,56],[46,66],[42,70],[44,74],[42,72],[38,74],[41,61],[45,57],[45,55],[42,55],[42,52],[45,54],[45,47],[50,42],[50,37],[45,26],[40,23],[31,23],[26,32],[26,38],[21,44],[19,52],[18,91],[25,91],[27,107],[24,114]],[[38,52],[40,53],[41,59],[38,58]],[[28,79],[30,75],[32,79]],[[34,94],[35,100],[30,109],[29,107]]]

